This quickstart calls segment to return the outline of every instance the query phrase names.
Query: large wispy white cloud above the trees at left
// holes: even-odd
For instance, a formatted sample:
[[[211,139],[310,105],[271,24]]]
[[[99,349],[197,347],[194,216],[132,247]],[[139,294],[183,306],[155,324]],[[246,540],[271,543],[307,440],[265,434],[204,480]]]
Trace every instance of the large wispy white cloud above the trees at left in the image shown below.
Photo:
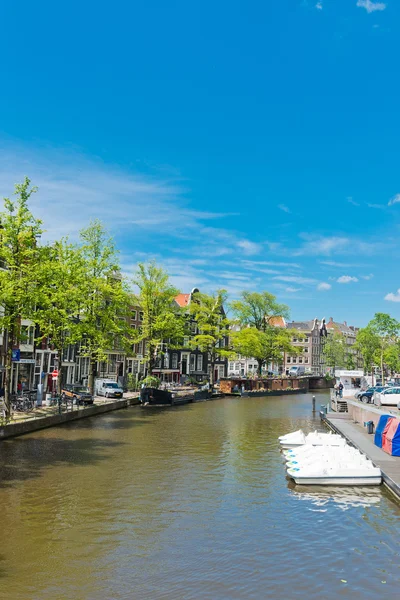
[[[135,232],[135,237],[140,230],[192,235],[203,221],[218,218],[192,210],[176,177],[128,172],[76,152],[1,148],[0,196],[12,194],[25,175],[39,188],[30,206],[43,220],[45,239],[74,238],[93,218],[113,233]]]

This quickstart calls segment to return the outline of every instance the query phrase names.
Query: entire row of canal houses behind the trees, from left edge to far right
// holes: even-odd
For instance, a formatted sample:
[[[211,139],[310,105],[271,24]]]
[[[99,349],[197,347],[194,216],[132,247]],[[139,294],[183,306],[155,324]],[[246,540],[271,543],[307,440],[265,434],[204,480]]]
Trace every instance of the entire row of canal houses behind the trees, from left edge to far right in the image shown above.
[[[181,308],[189,307],[193,294],[198,292],[194,288],[190,294],[179,294],[175,302]],[[133,329],[139,329],[142,325],[143,314],[137,307],[132,307],[130,314],[130,326]],[[268,365],[267,370],[274,373],[287,372],[294,364],[304,364],[313,374],[319,375],[325,372],[322,354],[322,342],[319,335],[320,323],[317,319],[314,321],[287,323],[282,317],[273,317],[272,324],[276,327],[285,327],[293,331],[294,344],[300,345],[302,352],[300,355],[283,356],[281,364]],[[24,343],[14,351],[12,365],[12,389],[34,390],[39,383],[43,384],[45,391],[52,391],[55,383],[52,376],[53,371],[63,370],[63,381],[65,383],[85,384],[89,374],[89,359],[80,355],[79,344],[70,345],[66,348],[64,356],[61,357],[61,364],[57,353],[47,343],[46,340],[37,342],[39,331],[35,324],[29,320],[22,320]],[[197,324],[190,322],[190,333],[198,333]],[[327,324],[329,332],[341,331],[348,344],[349,351],[355,343],[356,329],[347,324],[334,323],[333,319]],[[296,339],[296,331],[301,331],[302,337]],[[222,347],[229,344],[228,337],[221,340]],[[355,351],[354,351],[355,352]],[[105,362],[98,363],[98,377],[113,379],[121,384],[126,384],[128,376],[133,378],[142,378],[146,375],[146,364],[143,361],[145,354],[144,342],[134,344],[132,352],[127,354],[121,348],[110,349]],[[5,372],[5,340],[0,334],[0,388],[4,384]],[[254,359],[237,356],[235,359],[227,360],[221,358],[214,365],[214,380],[227,376],[247,376],[256,372],[257,363]],[[180,349],[168,348],[167,345],[162,348],[156,369],[156,375],[164,382],[183,383],[189,378],[196,381],[205,381],[211,373],[211,364],[207,352],[201,352],[198,349],[190,348],[189,337],[185,338],[183,347]],[[0,391],[1,395],[1,391]]]

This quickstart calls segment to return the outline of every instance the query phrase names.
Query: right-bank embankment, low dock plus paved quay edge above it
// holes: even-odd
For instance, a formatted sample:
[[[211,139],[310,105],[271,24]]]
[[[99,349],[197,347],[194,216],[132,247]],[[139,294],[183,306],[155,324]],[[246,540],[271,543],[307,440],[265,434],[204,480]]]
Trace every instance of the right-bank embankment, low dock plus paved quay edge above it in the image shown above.
[[[323,422],[332,431],[342,435],[350,445],[358,448],[376,467],[379,467],[382,471],[384,485],[400,499],[400,457],[390,456],[375,446],[374,436],[369,434],[364,426],[364,423],[368,421],[377,424],[379,418],[384,414],[389,414],[390,411],[370,405],[360,405],[355,400],[349,400],[348,405],[349,413],[321,413]],[[350,407],[352,407],[351,412]]]

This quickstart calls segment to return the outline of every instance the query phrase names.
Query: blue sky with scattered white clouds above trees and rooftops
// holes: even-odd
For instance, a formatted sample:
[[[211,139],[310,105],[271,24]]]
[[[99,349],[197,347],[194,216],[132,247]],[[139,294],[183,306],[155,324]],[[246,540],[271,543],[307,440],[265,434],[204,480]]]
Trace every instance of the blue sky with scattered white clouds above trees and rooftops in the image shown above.
[[[20,0],[2,25],[0,194],[28,175],[48,238],[99,217],[182,291],[400,318],[400,3]]]

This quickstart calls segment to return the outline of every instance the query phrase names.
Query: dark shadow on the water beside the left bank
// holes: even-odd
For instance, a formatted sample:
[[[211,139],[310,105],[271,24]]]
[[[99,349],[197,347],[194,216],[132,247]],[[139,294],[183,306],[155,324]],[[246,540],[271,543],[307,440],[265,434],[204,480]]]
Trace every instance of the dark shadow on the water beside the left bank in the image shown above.
[[[96,465],[123,442],[81,438],[20,437],[1,442],[0,488],[40,477],[50,466]]]

